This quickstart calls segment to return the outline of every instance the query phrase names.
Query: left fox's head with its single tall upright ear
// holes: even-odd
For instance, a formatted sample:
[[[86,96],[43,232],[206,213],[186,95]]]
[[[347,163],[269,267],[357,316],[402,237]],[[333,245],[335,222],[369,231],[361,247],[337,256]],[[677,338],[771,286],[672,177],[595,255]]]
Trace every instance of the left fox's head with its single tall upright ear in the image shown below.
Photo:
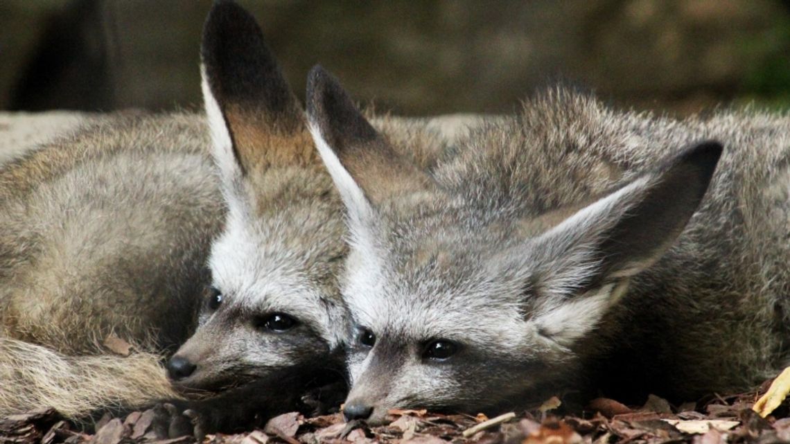
[[[198,329],[168,372],[189,393],[282,388],[333,367],[345,333],[335,280],[346,253],[342,205],[254,18],[216,2],[201,59],[228,216],[211,249],[213,286]]]

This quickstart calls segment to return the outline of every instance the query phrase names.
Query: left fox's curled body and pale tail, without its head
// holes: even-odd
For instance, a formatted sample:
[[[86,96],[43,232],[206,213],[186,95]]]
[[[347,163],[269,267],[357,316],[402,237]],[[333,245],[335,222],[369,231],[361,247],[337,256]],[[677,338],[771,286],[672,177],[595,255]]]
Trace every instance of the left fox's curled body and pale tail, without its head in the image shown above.
[[[194,328],[224,214],[204,119],[93,120],[0,167],[3,414],[175,394],[160,354]]]

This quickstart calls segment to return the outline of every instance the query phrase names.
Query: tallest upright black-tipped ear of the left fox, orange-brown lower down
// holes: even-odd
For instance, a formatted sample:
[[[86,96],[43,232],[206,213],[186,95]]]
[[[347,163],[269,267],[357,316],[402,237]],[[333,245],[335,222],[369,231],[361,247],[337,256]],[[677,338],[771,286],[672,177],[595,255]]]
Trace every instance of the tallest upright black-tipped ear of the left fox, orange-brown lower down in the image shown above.
[[[254,17],[234,2],[217,1],[209,12],[201,76],[213,155],[226,186],[271,164],[314,157],[309,144],[287,143],[307,130],[302,108]]]

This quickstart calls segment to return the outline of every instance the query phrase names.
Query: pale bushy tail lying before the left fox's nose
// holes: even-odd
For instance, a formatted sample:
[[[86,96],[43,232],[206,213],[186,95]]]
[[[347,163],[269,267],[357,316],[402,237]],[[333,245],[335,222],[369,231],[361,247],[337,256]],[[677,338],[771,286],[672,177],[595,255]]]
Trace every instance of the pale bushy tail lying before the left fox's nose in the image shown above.
[[[81,418],[104,408],[140,408],[178,399],[162,356],[64,356],[40,345],[0,337],[0,416],[55,408]]]

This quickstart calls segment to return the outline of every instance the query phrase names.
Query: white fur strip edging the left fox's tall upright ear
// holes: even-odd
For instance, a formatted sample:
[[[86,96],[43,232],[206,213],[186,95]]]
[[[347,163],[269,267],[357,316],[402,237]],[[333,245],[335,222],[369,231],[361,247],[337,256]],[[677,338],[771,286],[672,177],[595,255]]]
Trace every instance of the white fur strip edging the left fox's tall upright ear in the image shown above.
[[[233,141],[231,141],[231,134],[228,131],[228,122],[225,122],[220,110],[220,104],[217,103],[211,92],[209,81],[206,78],[205,66],[202,63],[200,72],[203,105],[211,134],[211,152],[214,157],[214,163],[220,169],[220,177],[224,186],[231,190],[235,186],[235,182],[241,178],[242,171],[233,153]]]

